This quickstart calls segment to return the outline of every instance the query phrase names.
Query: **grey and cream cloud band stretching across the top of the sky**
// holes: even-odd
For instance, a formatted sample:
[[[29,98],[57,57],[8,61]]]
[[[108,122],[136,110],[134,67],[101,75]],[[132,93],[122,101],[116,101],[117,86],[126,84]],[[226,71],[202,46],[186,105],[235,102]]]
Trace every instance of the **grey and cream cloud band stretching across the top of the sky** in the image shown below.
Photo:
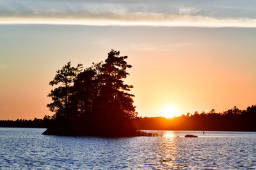
[[[256,27],[256,2],[0,0],[0,24]]]

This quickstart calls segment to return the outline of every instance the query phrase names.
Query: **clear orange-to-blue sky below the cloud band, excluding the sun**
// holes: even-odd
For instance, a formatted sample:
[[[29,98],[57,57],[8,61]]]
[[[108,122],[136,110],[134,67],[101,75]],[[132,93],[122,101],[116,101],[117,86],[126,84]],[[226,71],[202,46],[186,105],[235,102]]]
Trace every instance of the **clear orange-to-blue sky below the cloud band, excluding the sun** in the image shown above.
[[[90,66],[111,48],[128,55],[139,116],[245,109],[256,104],[256,29],[0,25],[0,119],[52,115],[56,70]]]

